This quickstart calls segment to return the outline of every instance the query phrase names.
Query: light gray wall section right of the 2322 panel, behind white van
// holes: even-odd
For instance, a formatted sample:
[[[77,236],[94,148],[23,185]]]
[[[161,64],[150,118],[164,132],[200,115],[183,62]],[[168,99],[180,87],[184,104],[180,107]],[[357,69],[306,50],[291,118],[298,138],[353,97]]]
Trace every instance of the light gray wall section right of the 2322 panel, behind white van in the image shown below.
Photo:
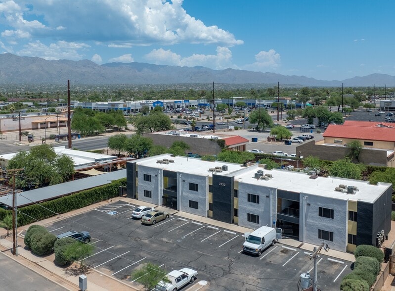
[[[259,195],[259,204],[248,202],[248,194]],[[275,189],[239,182],[238,201],[240,226],[257,229],[263,225],[272,226],[273,221],[276,221],[277,198]],[[259,215],[259,224],[249,222],[247,213]]]

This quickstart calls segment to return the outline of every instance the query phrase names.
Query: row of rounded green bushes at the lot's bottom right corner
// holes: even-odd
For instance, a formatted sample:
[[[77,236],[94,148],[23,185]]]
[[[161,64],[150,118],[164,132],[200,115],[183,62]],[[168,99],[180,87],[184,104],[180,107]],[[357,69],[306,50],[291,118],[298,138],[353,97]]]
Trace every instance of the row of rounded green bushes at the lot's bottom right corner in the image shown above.
[[[383,252],[373,245],[358,245],[354,251],[354,269],[340,285],[342,291],[369,291],[376,282],[383,261]]]

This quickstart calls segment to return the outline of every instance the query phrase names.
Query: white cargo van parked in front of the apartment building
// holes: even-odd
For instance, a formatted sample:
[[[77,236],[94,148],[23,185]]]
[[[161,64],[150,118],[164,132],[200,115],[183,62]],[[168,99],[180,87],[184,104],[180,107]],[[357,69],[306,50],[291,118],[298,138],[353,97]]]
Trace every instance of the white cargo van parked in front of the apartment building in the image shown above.
[[[243,251],[260,256],[264,249],[281,239],[281,228],[262,226],[252,233],[245,233],[244,238]]]

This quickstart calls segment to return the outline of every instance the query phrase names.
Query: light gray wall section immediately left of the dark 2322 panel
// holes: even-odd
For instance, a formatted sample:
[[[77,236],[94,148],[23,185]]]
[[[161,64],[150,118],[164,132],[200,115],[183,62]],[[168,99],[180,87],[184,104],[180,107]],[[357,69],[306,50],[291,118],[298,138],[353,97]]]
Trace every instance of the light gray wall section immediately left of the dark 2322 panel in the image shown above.
[[[189,183],[198,185],[198,191],[190,191]],[[209,210],[208,176],[177,173],[177,207],[178,210],[207,217]],[[197,201],[199,209],[190,208],[189,200]]]

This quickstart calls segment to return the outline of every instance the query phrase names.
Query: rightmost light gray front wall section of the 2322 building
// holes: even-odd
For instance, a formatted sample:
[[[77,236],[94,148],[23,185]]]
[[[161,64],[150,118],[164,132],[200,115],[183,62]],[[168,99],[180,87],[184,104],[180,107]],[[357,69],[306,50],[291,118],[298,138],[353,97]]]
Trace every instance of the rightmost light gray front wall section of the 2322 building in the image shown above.
[[[345,194],[346,195],[346,194]],[[348,202],[330,197],[300,194],[300,241],[319,245],[318,230],[333,232],[333,242],[325,241],[329,247],[346,251],[348,240]],[[306,202],[305,202],[306,201]],[[310,204],[310,205],[308,205]],[[333,219],[318,215],[319,207],[334,210]],[[306,221],[306,224],[305,224]]]

